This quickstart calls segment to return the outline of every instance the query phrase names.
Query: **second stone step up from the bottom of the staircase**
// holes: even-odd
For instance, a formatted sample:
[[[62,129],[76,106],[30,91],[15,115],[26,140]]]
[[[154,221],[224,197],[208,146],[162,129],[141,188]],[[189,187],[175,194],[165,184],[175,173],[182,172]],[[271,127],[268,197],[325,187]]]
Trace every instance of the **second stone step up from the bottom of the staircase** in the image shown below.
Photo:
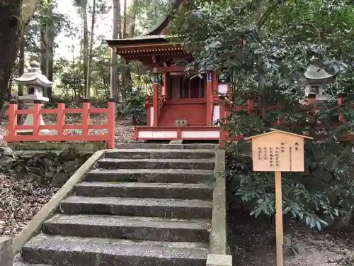
[[[58,214],[44,223],[42,231],[91,238],[208,243],[210,220]]]

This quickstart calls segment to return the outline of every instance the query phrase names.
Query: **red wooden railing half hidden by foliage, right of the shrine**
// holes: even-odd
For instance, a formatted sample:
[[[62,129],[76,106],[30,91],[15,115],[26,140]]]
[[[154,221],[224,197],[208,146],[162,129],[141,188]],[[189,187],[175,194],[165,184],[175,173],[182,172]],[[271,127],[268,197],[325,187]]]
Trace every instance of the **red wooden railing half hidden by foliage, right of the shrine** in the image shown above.
[[[345,105],[345,99],[346,96],[340,95],[338,96],[338,107],[344,107]],[[348,108],[354,108],[353,104],[346,104],[346,106]],[[276,110],[281,110],[281,106],[280,105],[273,105],[273,106],[268,106],[265,111],[276,111]],[[314,95],[309,95],[309,98],[307,99],[307,101],[302,104],[299,105],[299,109],[301,111],[309,111],[312,113],[315,113],[316,111],[316,99],[314,98]],[[220,104],[220,120],[224,120],[224,126],[222,126],[222,128],[220,129],[220,146],[223,148],[225,143],[227,141],[238,141],[238,140],[242,140],[244,138],[244,136],[242,135],[231,135],[229,133],[229,131],[227,130],[227,124],[229,123],[229,121],[227,121],[227,118],[230,116],[230,114],[232,113],[232,111],[234,112],[241,112],[241,111],[246,111],[247,113],[249,113],[249,115],[251,116],[252,113],[256,112],[256,111],[261,111],[260,108],[258,107],[258,105],[256,104],[256,101],[254,101],[253,99],[249,99],[246,103],[246,105],[244,106],[233,106],[232,108],[229,107],[229,105],[227,104],[227,101],[224,103]],[[344,121],[343,118],[343,113],[339,113],[338,115],[338,121]],[[272,123],[272,126],[280,126],[284,123],[284,118],[283,117],[278,117],[277,121],[274,121]],[[310,122],[311,123],[311,122]],[[300,125],[287,125],[289,128],[299,128],[302,127]],[[309,125],[312,126],[312,128],[316,129],[316,128],[321,128],[321,124],[320,123],[316,123],[315,125]],[[333,127],[335,127],[336,125],[333,125]],[[323,138],[326,137],[325,135],[316,135],[316,140],[323,140]],[[346,140],[346,141],[354,141],[354,134],[346,134],[343,135],[341,140]]]

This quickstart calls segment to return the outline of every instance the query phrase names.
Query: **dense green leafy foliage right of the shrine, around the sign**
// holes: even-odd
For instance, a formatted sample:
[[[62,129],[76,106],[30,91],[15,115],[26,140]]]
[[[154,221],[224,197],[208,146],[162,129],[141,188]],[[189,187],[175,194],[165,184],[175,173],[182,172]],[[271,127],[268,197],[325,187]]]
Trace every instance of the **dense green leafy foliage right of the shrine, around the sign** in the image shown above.
[[[232,135],[267,132],[278,116],[285,118],[278,126],[282,130],[315,138],[324,134],[323,140],[305,144],[306,172],[285,173],[282,184],[285,213],[319,230],[329,220],[353,212],[352,143],[340,138],[354,132],[354,116],[353,110],[338,108],[335,101],[338,92],[352,94],[353,26],[353,6],[343,0],[200,0],[188,1],[174,29],[193,52],[194,65],[229,76],[233,89],[229,104],[255,99],[257,109],[251,115],[232,113],[227,119]],[[304,99],[302,77],[309,65],[337,77],[326,87],[330,101],[317,113],[299,109]],[[266,111],[274,104],[281,110]],[[348,122],[338,121],[338,113]],[[228,174],[236,181],[236,196],[253,202],[255,216],[274,214],[273,173],[252,172],[250,160],[235,159],[250,155],[249,143],[240,141],[228,148]]]

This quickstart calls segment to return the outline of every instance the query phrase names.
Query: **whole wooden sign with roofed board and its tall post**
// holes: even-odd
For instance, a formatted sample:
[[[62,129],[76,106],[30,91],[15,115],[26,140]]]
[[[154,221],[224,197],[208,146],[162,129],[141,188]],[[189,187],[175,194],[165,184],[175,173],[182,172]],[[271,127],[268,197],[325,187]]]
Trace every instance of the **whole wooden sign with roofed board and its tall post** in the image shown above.
[[[276,253],[277,266],[282,266],[282,172],[304,172],[304,138],[313,138],[271,130],[245,140],[252,141],[253,171],[275,173]]]

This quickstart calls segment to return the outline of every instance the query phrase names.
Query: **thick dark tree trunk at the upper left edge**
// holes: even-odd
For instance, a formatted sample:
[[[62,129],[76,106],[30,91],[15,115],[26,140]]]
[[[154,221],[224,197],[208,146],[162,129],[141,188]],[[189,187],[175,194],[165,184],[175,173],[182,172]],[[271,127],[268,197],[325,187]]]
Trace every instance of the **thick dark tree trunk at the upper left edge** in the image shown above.
[[[20,46],[22,0],[0,0],[0,110],[8,98],[11,70]]]

